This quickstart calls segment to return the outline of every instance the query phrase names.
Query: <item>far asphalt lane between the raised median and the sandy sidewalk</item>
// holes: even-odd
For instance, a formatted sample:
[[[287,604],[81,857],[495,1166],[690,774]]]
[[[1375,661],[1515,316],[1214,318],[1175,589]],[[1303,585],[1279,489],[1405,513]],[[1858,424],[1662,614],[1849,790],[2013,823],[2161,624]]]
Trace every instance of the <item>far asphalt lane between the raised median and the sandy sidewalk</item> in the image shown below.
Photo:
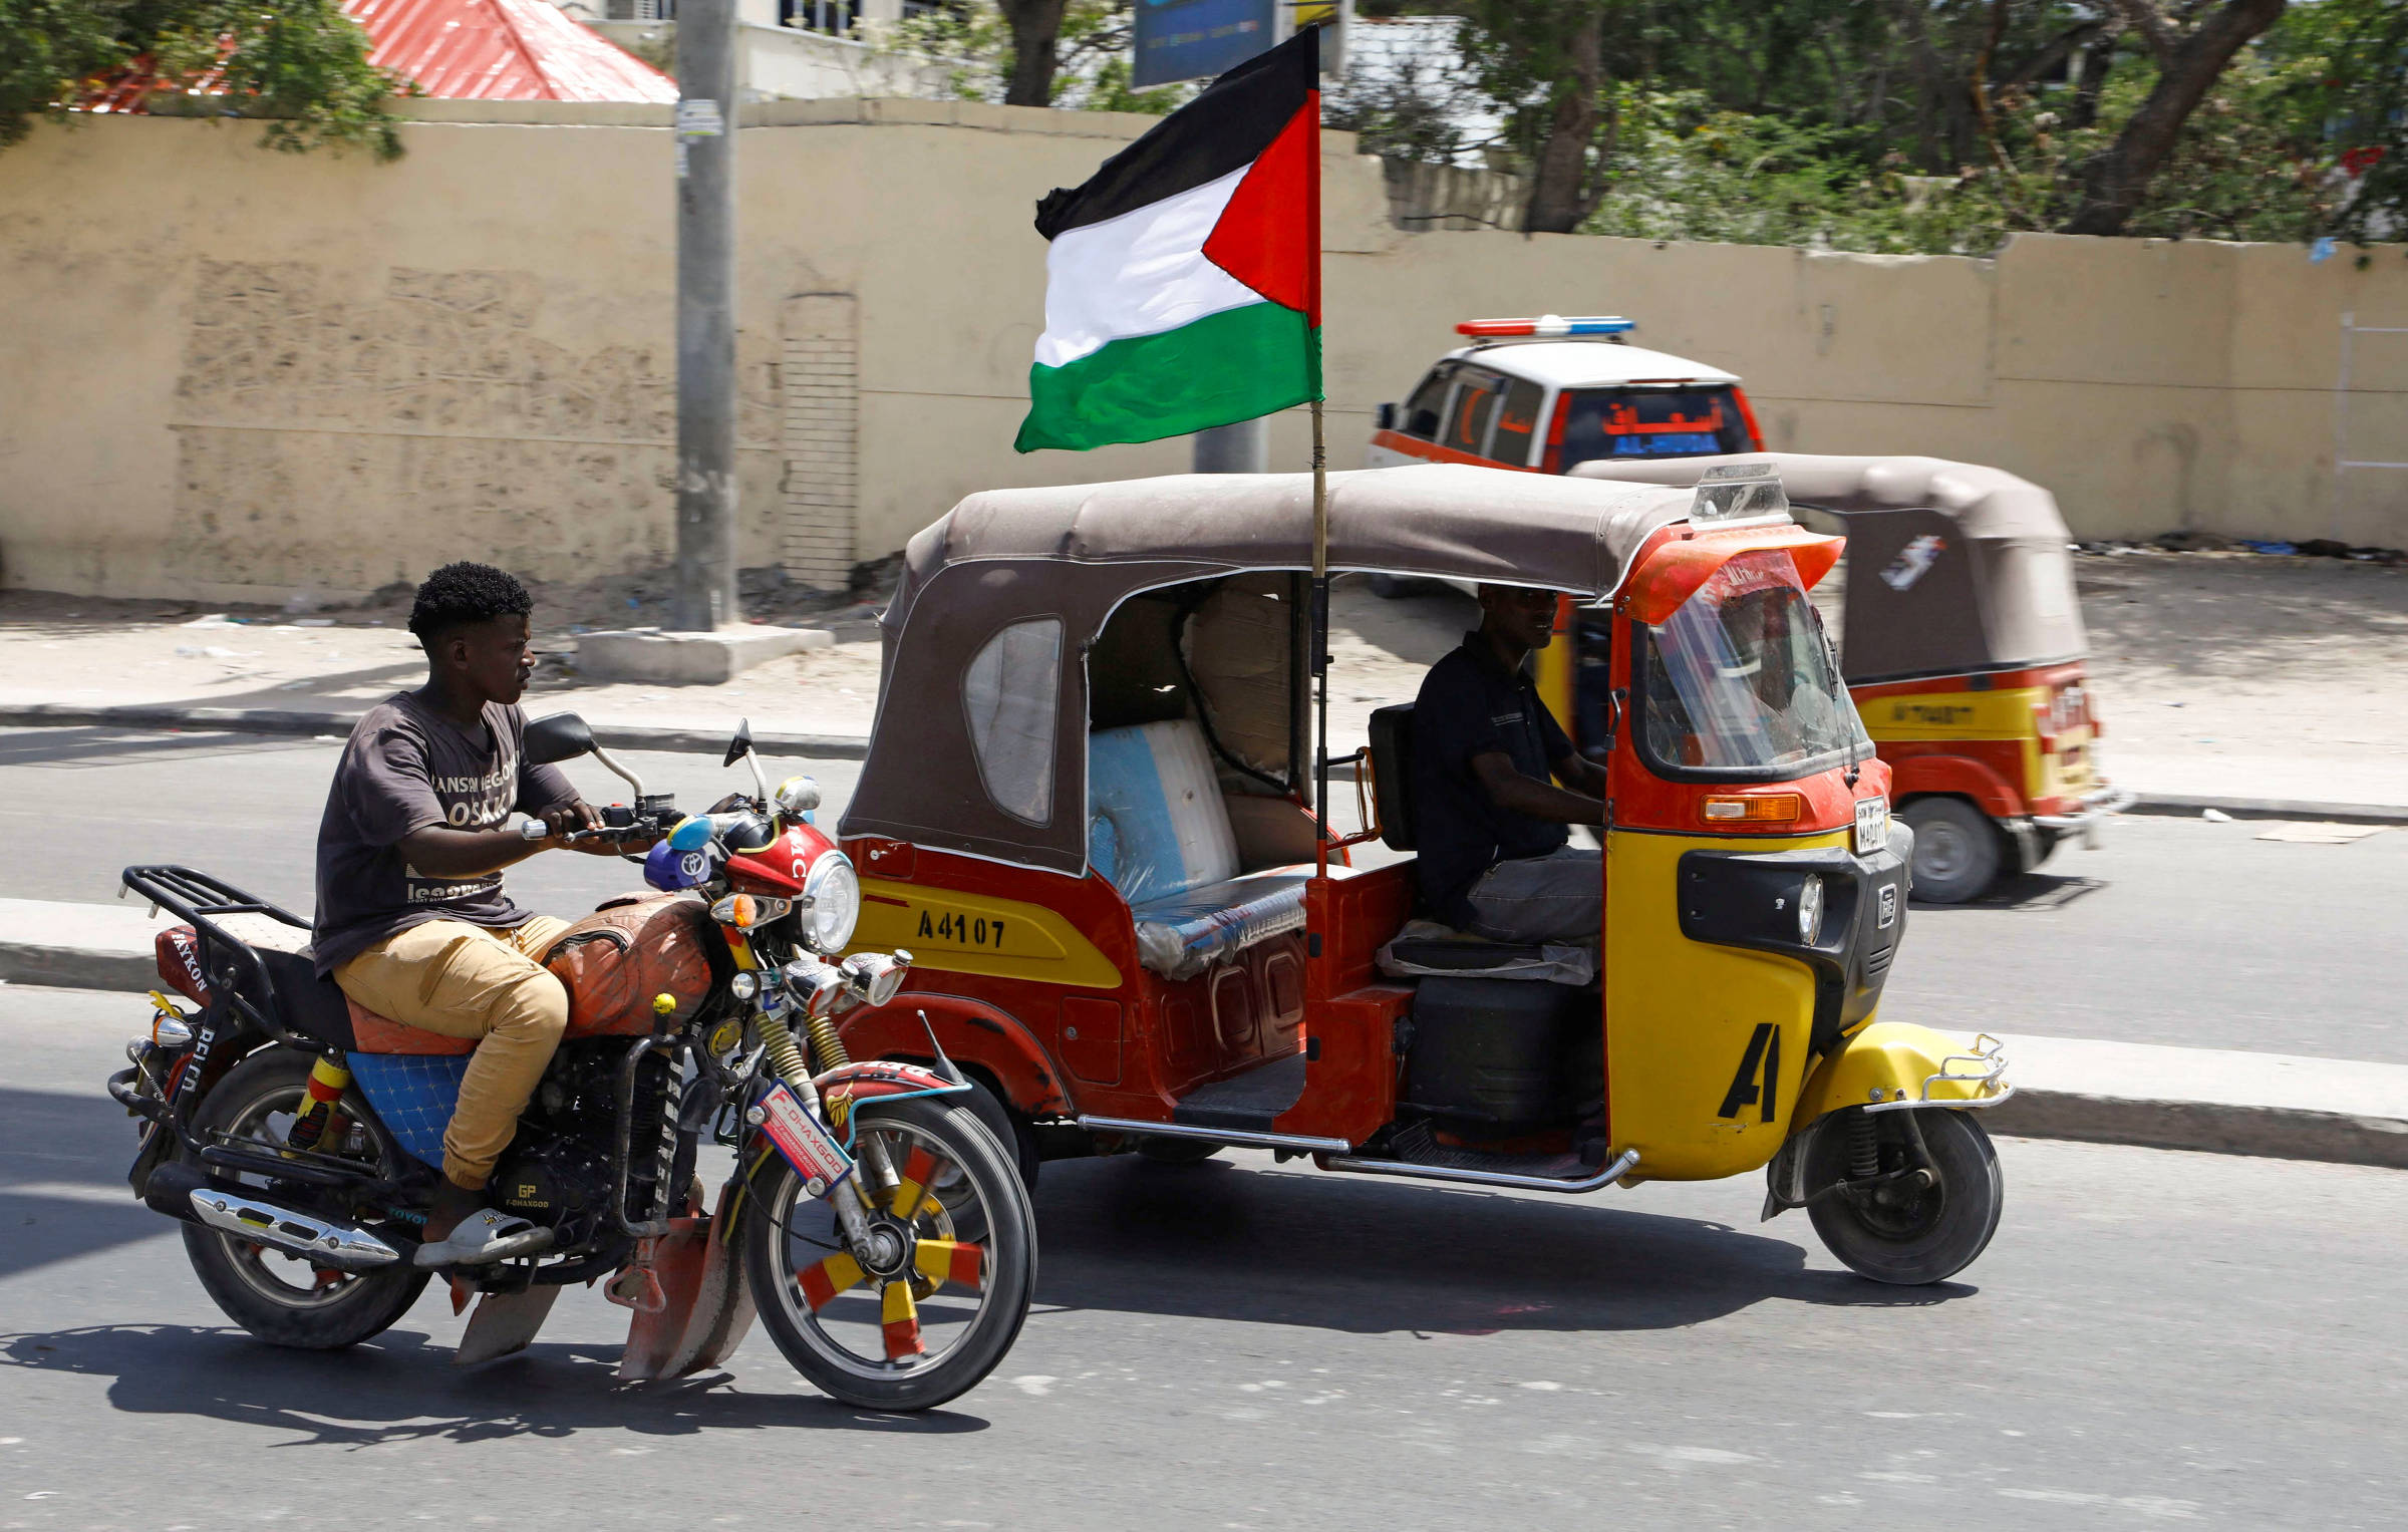
[[[118,730],[0,730],[7,894],[111,898],[118,867],[193,862],[296,911],[335,742]],[[624,756],[701,807],[749,780],[715,756]],[[595,797],[624,785],[592,761]],[[857,761],[811,771],[836,824]],[[2064,848],[1975,906],[1917,906],[1885,1014],[1955,1029],[2408,1062],[2401,896],[2408,831],[2350,845],[2261,841],[2261,821],[2126,817],[2102,850]],[[549,853],[510,872],[518,898],[573,915],[638,886],[636,870]]]

